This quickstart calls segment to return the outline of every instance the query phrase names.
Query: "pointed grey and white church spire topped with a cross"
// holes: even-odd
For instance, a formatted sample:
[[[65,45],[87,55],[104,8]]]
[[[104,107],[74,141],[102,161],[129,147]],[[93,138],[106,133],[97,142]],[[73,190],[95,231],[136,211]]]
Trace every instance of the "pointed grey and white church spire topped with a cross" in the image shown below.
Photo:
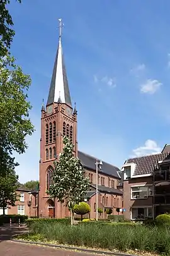
[[[50,91],[48,94],[47,105],[57,102],[60,97],[62,103],[66,103],[69,106],[71,104],[71,95],[69,91],[69,85],[67,81],[67,73],[65,70],[64,56],[62,53],[61,35],[62,27],[64,24],[59,19],[59,46],[55,57],[54,69],[52,73],[52,80],[50,84]]]

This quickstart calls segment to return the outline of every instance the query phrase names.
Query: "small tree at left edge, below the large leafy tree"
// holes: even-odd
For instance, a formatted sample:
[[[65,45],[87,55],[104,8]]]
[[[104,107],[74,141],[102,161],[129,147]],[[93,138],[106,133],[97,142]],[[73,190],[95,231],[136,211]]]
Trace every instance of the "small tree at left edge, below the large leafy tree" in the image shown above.
[[[16,175],[14,170],[6,172],[6,174],[0,178],[0,207],[3,208],[3,214],[5,214],[7,205],[15,205],[17,200],[17,181],[18,175]]]

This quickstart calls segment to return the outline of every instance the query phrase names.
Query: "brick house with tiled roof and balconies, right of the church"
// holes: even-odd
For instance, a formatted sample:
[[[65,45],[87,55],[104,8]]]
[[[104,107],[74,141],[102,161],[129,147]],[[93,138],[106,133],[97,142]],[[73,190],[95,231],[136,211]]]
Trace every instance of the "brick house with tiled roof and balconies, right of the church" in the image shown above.
[[[122,166],[126,219],[170,212],[170,145],[159,154],[127,159]]]

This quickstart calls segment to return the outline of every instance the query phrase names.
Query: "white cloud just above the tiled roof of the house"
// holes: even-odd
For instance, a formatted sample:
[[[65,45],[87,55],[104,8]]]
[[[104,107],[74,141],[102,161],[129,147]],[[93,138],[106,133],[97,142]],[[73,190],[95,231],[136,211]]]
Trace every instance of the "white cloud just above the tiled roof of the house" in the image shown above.
[[[161,147],[157,145],[154,140],[146,140],[144,146],[133,149],[133,157],[140,157],[143,155],[157,154],[161,152]]]

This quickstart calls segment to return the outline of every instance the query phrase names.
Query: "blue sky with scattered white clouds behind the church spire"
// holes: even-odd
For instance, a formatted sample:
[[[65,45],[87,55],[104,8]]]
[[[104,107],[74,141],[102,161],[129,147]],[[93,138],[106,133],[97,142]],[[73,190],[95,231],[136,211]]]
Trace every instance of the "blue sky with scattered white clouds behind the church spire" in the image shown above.
[[[170,2],[156,0],[26,1],[10,4],[11,52],[32,85],[34,135],[16,155],[20,181],[38,179],[40,109],[47,101],[58,45],[58,18],[79,150],[121,167],[170,143]]]

